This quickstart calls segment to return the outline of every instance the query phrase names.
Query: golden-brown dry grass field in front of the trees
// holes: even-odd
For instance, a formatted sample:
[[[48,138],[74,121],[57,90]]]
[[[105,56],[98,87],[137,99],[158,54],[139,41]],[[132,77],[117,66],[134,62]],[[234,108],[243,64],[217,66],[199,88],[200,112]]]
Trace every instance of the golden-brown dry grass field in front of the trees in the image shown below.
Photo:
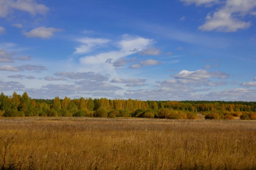
[[[3,169],[256,169],[254,120],[2,117],[0,138]]]

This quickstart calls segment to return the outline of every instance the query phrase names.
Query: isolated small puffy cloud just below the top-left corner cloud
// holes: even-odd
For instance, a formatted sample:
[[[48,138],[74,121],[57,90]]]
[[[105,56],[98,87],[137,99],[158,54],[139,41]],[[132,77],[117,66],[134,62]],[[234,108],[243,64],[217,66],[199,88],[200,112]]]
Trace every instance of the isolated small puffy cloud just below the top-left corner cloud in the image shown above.
[[[37,27],[34,28],[33,30],[29,32],[23,32],[23,35],[26,35],[26,37],[31,38],[31,37],[40,37],[40,38],[51,38],[53,36],[54,32],[59,32],[62,31],[62,29],[59,28],[45,28],[45,27]]]

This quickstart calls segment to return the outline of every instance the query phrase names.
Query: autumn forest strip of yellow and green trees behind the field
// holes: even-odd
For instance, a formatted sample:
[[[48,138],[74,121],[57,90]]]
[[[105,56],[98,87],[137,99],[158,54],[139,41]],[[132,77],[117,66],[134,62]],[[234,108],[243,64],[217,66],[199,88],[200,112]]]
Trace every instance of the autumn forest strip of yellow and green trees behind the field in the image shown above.
[[[197,119],[197,112],[206,119],[256,120],[256,102],[225,101],[141,101],[124,99],[31,99],[22,95],[0,95],[0,116],[63,116],[63,117],[144,117],[160,119]]]

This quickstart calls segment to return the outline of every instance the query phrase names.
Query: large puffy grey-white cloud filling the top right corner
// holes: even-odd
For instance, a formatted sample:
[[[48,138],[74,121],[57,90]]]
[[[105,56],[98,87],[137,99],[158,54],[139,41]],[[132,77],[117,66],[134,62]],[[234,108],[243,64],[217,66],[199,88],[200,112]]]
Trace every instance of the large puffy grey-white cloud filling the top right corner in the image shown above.
[[[251,21],[243,21],[246,15],[253,15],[253,9],[256,7],[255,0],[181,0],[188,5],[209,5],[222,2],[223,5],[218,7],[215,12],[210,12],[206,16],[206,21],[198,29],[202,31],[221,31],[235,32],[238,29],[247,29],[251,26]]]

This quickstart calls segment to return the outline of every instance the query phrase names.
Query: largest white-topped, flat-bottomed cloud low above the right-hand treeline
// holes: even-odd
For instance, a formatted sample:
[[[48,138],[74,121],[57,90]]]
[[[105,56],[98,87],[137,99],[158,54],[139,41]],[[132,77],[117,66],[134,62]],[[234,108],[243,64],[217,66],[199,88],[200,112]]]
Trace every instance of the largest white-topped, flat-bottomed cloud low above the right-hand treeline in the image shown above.
[[[182,78],[182,79],[192,79],[192,80],[201,80],[204,78],[220,78],[220,79],[225,79],[229,77],[229,74],[222,73],[220,71],[206,71],[206,70],[196,70],[196,71],[187,71],[187,70],[182,70],[178,74],[173,75],[172,77],[174,78]]]

